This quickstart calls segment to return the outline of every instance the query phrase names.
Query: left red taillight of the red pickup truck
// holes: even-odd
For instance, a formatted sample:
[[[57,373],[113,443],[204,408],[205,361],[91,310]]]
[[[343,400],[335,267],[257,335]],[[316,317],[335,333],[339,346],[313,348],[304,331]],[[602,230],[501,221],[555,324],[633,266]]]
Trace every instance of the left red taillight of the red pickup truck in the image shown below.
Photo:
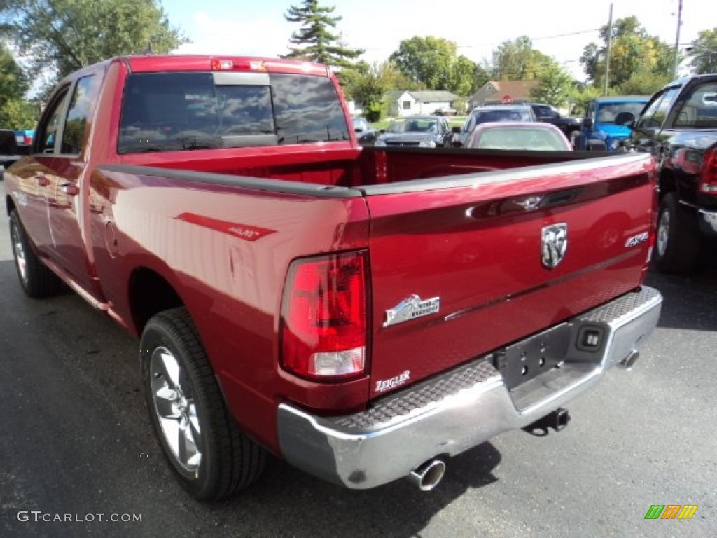
[[[282,367],[314,380],[363,375],[366,292],[364,252],[295,260],[282,298]]]

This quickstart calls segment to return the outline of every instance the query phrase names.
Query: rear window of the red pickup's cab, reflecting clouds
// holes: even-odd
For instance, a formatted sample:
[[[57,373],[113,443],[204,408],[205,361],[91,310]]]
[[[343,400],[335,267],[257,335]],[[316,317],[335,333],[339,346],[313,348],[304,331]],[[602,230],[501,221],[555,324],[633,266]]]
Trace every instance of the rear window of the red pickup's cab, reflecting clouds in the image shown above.
[[[348,140],[330,79],[244,72],[133,73],[119,154]]]

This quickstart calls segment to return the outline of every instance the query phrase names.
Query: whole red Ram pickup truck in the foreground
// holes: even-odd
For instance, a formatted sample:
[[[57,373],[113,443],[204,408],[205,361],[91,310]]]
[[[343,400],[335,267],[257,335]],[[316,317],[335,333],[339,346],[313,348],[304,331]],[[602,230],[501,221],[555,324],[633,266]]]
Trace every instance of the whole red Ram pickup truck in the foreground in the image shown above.
[[[361,148],[350,126],[320,65],[122,57],[63,80],[6,172],[24,291],[65,283],[138,336],[198,498],[267,452],[432,489],[500,432],[561,428],[657,324],[649,155]]]

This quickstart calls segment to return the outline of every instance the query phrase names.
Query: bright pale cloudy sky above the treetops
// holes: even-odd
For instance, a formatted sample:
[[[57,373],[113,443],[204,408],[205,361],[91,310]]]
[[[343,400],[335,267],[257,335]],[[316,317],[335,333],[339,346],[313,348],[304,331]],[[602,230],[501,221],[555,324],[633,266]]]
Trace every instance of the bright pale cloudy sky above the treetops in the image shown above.
[[[533,48],[554,57],[578,80],[579,58],[599,27],[635,15],[647,32],[674,45],[680,0],[321,0],[342,19],[334,29],[343,42],[364,49],[367,62],[382,62],[402,39],[445,37],[474,62],[490,59],[501,42],[527,35]],[[275,57],[288,52],[300,24],[283,14],[301,0],[161,0],[169,21],[191,43],[178,52]],[[716,0],[683,0],[680,44],[717,27]],[[683,69],[684,70],[684,69]]]

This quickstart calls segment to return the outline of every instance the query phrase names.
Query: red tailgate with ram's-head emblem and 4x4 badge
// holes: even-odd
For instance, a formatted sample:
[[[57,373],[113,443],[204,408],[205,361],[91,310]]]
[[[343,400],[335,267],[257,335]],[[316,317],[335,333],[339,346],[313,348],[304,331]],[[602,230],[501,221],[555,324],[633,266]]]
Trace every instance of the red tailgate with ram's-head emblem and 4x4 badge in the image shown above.
[[[366,187],[371,397],[640,285],[654,170],[630,154]]]

